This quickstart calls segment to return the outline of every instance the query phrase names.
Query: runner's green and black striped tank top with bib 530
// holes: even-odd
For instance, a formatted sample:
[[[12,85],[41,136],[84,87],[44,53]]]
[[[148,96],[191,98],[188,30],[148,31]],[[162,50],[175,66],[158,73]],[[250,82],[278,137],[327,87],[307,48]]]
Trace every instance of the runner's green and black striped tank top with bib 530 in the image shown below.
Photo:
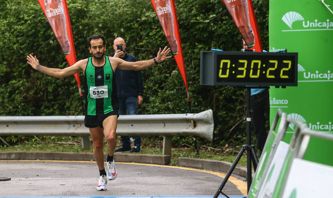
[[[112,70],[109,57],[105,56],[105,64],[96,67],[92,57],[88,59],[85,70],[87,93],[86,115],[103,115],[119,109],[115,73]]]

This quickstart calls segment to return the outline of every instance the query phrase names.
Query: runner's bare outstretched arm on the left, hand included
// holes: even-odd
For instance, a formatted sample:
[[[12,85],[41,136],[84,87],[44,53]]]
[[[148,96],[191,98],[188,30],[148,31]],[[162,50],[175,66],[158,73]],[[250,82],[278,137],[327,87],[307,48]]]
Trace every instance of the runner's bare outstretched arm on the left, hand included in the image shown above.
[[[31,65],[31,67],[34,68],[35,70],[38,70],[40,72],[43,72],[44,74],[57,78],[63,78],[78,73],[79,71],[82,70],[82,65],[83,65],[82,62],[84,62],[84,60],[80,60],[71,67],[66,67],[64,69],[56,69],[56,68],[48,68],[45,66],[41,66],[39,64],[39,60],[37,59],[37,57],[32,56],[31,54],[27,56],[27,60],[28,60],[27,63]]]

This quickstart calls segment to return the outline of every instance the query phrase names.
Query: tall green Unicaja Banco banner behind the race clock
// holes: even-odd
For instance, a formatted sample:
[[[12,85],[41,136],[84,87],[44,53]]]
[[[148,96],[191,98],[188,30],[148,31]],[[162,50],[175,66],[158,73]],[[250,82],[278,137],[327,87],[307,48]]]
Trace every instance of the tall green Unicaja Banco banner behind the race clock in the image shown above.
[[[281,108],[310,129],[333,132],[332,46],[333,13],[321,1],[269,1],[269,52],[298,52],[298,86],[270,89],[270,123]],[[286,137],[294,130],[290,124]]]

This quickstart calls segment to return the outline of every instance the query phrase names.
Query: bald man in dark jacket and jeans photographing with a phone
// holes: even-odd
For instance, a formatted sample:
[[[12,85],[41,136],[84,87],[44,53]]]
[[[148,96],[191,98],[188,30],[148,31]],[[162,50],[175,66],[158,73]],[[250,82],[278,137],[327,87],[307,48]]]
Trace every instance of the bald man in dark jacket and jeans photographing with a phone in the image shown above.
[[[137,58],[125,51],[126,43],[123,38],[117,37],[113,41],[115,53],[111,57],[118,57],[128,62],[136,62]],[[119,115],[137,115],[137,105],[143,102],[143,83],[141,70],[121,70],[116,69],[117,95],[119,99]],[[134,147],[131,149],[130,136],[122,136],[123,146],[115,152],[139,152],[141,146],[141,136],[134,136]]]

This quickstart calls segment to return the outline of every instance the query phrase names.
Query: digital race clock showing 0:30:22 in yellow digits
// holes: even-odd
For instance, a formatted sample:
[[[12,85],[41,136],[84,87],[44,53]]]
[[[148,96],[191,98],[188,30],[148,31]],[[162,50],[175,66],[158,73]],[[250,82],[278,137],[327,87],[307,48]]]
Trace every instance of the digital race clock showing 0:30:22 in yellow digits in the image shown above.
[[[297,86],[298,53],[201,51],[200,85]]]

